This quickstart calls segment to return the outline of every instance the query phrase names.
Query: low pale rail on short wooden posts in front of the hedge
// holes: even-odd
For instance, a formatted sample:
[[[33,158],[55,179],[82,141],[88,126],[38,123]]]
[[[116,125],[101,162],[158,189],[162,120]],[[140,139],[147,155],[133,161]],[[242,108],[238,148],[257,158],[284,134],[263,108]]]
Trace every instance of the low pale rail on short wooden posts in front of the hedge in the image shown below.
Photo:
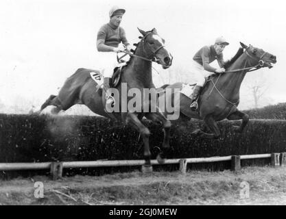
[[[180,171],[185,174],[187,164],[231,162],[231,170],[241,170],[242,159],[261,159],[271,158],[271,166],[286,166],[286,153],[269,153],[259,155],[230,155],[225,157],[201,157],[201,158],[182,158],[166,159],[164,164],[180,164]],[[144,160],[99,160],[86,162],[38,162],[38,163],[0,163],[0,170],[44,170],[50,169],[53,180],[62,177],[63,168],[97,168],[97,167],[117,167],[117,166],[142,166]],[[159,164],[156,159],[151,160],[152,165]]]

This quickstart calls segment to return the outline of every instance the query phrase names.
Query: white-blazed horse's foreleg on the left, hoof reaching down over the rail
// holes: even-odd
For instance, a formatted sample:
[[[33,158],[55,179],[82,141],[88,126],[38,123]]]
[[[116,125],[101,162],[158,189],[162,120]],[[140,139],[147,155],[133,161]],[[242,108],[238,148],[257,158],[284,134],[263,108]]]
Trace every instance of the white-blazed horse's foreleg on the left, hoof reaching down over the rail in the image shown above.
[[[145,159],[145,166],[150,167],[151,166],[151,153],[150,153],[150,146],[149,146],[149,137],[150,137],[150,131],[145,127],[136,114],[134,113],[128,113],[126,116],[126,125],[130,125],[137,131],[139,131],[144,144],[144,159]]]

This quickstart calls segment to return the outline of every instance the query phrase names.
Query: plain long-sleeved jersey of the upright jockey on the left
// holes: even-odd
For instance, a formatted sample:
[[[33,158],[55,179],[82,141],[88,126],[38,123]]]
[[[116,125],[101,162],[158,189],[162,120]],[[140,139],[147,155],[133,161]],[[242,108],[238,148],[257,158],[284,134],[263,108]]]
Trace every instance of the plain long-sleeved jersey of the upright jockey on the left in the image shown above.
[[[97,32],[97,45],[104,43],[110,47],[118,47],[120,42],[126,46],[129,44],[122,27],[113,27],[112,24],[106,23]]]

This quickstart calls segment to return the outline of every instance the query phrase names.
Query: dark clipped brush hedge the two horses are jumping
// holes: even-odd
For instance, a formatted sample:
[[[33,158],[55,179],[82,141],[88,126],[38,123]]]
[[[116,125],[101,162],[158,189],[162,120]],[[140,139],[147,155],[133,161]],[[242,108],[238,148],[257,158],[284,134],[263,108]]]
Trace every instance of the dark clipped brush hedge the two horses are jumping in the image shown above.
[[[155,159],[163,142],[158,125],[143,122],[152,132],[150,149]],[[202,122],[171,127],[169,158],[247,155],[286,151],[286,120],[250,120],[243,133],[218,123],[222,137],[204,140],[191,136]],[[0,162],[88,161],[143,159],[139,133],[108,118],[94,116],[36,116],[0,114]]]

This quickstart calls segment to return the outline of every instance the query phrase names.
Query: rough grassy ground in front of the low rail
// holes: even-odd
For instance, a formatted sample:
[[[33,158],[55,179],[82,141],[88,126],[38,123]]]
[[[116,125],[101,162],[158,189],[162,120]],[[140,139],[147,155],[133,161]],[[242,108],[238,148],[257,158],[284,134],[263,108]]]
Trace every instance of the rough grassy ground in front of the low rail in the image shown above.
[[[43,198],[34,196],[36,181],[43,182]],[[249,198],[247,192],[241,193],[247,191],[243,183],[249,185]],[[58,181],[44,176],[17,178],[0,181],[0,205],[286,205],[286,167],[186,175],[138,171]]]

